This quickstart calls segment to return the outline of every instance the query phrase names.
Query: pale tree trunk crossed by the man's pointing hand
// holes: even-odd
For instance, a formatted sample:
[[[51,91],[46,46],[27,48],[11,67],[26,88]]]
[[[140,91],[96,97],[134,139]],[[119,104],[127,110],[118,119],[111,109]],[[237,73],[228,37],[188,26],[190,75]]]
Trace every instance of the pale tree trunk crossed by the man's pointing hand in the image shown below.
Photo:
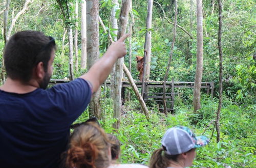
[[[122,0],[122,8],[119,17],[119,28],[117,38],[119,39],[125,34],[128,14],[130,11],[131,0]],[[118,129],[120,127],[121,119],[121,87],[122,87],[122,69],[123,69],[123,58],[117,60],[115,68],[115,87],[114,87],[114,118],[117,120],[113,124],[113,128]]]

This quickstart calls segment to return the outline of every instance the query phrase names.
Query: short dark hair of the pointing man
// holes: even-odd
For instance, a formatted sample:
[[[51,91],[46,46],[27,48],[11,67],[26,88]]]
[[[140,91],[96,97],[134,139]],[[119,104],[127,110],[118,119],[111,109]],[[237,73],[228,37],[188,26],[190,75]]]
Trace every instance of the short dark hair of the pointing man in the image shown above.
[[[15,33],[5,46],[4,63],[7,76],[28,82],[32,70],[39,62],[47,72],[52,50],[56,49],[55,41],[41,32],[23,31]]]

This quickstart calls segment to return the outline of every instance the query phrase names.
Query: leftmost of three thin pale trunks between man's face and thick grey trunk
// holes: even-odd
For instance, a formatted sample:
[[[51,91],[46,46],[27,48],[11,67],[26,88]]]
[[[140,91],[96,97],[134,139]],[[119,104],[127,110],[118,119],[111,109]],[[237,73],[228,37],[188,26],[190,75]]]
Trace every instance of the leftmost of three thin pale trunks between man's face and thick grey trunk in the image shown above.
[[[73,55],[73,31],[68,27],[68,36],[69,36],[69,79],[74,80],[74,55]]]

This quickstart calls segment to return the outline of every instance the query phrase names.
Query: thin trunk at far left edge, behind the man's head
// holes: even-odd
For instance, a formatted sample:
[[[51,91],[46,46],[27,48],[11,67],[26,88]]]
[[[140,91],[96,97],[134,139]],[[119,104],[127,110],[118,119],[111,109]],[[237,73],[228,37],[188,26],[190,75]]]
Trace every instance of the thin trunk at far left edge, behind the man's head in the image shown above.
[[[8,13],[9,13],[9,7],[10,7],[10,0],[6,1],[5,5],[5,11],[4,11],[4,41],[5,45],[7,43],[7,24],[8,24]],[[1,78],[2,78],[2,84],[5,82],[5,58],[4,55],[2,57],[2,67],[1,67]]]

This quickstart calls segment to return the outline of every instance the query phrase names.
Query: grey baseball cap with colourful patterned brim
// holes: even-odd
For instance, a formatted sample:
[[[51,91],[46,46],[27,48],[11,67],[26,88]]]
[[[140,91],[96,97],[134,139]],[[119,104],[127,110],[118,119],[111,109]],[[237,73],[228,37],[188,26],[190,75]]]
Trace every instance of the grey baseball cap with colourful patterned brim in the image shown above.
[[[177,155],[199,148],[209,143],[206,136],[196,136],[188,127],[178,126],[169,128],[163,138],[162,146],[166,148],[166,154]]]

